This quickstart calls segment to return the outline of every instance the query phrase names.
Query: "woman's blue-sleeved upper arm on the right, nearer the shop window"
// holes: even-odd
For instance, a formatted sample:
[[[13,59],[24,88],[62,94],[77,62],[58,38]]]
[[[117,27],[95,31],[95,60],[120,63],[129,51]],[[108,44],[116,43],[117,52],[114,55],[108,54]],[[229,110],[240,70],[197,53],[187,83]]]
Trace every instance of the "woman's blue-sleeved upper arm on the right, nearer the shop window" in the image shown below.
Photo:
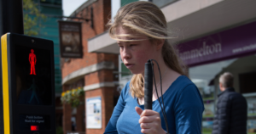
[[[175,105],[175,124],[178,134],[201,134],[204,105],[195,85],[183,88]]]

